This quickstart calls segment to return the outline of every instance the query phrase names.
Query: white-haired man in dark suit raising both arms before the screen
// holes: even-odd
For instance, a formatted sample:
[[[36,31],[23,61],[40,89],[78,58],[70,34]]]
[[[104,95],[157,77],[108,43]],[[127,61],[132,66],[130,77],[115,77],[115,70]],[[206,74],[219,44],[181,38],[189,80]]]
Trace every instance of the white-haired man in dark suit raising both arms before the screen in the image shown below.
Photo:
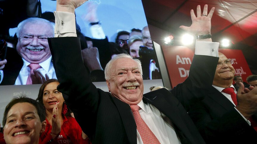
[[[60,81],[57,89],[92,143],[205,143],[187,110],[211,87],[219,59],[219,43],[210,38],[214,8],[208,14],[207,5],[203,12],[198,6],[197,16],[191,10],[192,25],[180,27],[199,36],[187,80],[171,92],[162,88],[143,95],[141,63],[126,54],[106,65],[109,92],[89,80],[74,15],[75,8],[85,1],[57,0],[55,38],[49,39],[49,45]]]

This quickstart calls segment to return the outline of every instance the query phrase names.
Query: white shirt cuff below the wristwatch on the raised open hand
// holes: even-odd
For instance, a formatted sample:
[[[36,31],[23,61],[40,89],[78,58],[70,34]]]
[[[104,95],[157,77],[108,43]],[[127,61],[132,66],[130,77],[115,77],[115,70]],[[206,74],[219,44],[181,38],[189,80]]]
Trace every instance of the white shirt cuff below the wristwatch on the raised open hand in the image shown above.
[[[196,41],[195,54],[219,57],[219,42]]]

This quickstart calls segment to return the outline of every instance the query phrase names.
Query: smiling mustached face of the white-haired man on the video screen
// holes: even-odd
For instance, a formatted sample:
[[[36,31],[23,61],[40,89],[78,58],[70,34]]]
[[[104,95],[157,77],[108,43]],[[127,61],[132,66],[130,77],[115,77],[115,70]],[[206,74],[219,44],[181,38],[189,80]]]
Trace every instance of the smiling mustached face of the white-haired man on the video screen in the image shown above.
[[[52,36],[49,24],[26,23],[18,37],[17,52],[26,61],[39,64],[51,56],[47,37]]]

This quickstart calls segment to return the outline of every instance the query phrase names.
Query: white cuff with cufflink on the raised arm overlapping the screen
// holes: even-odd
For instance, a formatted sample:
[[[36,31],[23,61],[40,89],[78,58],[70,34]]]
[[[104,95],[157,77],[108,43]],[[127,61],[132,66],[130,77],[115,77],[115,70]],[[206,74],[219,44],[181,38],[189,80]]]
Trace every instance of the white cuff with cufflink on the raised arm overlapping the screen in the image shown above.
[[[54,11],[54,15],[55,37],[77,37],[74,13]]]

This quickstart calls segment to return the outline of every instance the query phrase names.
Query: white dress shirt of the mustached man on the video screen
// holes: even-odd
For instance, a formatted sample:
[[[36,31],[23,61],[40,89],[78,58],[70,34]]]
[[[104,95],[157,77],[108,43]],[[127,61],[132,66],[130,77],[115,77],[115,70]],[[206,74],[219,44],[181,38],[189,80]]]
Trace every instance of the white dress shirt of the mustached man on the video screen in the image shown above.
[[[52,79],[52,78],[57,79],[55,74],[55,69],[53,67],[51,59],[52,59],[52,56],[50,56],[47,60],[43,61],[42,63],[39,63],[41,68],[38,68],[37,70],[41,72],[41,74],[44,77],[47,74],[49,79]],[[28,67],[30,63],[27,62],[24,58],[22,58],[22,60],[23,60],[23,66],[21,68],[21,71],[14,85],[26,85],[27,79],[30,75],[30,68]]]

